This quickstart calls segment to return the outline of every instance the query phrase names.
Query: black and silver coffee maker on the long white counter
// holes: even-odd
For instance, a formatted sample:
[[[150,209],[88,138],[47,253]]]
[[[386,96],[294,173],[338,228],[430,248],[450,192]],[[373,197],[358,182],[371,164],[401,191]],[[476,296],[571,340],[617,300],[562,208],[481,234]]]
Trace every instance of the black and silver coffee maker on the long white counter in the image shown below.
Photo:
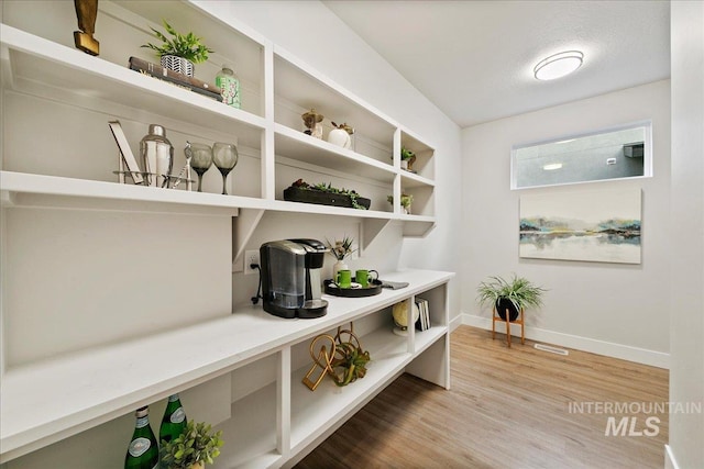
[[[328,248],[317,239],[282,239],[260,247],[264,311],[275,316],[324,316],[320,268]]]

